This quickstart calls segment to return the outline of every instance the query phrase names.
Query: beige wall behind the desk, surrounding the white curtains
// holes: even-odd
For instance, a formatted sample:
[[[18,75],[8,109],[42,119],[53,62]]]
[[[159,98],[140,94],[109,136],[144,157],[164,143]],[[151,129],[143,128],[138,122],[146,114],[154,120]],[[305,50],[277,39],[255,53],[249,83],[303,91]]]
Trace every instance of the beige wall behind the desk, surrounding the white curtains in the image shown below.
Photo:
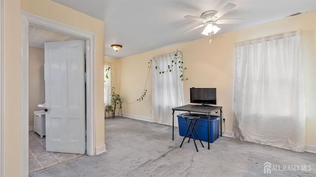
[[[148,73],[148,62],[157,55],[182,51],[185,77],[184,101],[190,103],[190,87],[216,87],[217,105],[223,106],[226,130],[233,130],[235,44],[240,41],[302,31],[302,50],[306,90],[306,143],[316,145],[316,11],[288,17],[254,27],[202,38],[118,60],[119,94],[128,102],[142,93]],[[147,84],[148,93],[142,102],[123,104],[123,113],[152,117],[152,73]],[[171,115],[170,115],[171,118]]]

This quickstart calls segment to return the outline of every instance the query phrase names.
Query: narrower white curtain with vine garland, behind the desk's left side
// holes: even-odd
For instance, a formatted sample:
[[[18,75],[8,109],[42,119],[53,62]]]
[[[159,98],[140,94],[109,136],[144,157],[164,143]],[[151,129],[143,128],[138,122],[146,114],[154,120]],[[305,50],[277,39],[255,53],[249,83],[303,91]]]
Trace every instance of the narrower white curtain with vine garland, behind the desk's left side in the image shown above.
[[[161,74],[156,69],[156,66],[159,66],[162,71],[166,71],[168,65],[171,66],[174,55],[174,53],[170,53],[153,59],[153,121],[159,124],[172,125],[171,109],[183,106],[183,88],[179,67],[174,66],[171,68],[171,72],[167,71]],[[178,61],[182,61],[182,56],[180,57]]]

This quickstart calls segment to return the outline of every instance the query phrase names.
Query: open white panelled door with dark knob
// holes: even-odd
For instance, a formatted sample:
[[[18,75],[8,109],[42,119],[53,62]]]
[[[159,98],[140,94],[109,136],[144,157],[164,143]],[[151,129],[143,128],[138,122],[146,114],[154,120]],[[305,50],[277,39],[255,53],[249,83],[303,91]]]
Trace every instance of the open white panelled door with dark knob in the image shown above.
[[[85,153],[83,47],[83,40],[45,43],[46,151]]]

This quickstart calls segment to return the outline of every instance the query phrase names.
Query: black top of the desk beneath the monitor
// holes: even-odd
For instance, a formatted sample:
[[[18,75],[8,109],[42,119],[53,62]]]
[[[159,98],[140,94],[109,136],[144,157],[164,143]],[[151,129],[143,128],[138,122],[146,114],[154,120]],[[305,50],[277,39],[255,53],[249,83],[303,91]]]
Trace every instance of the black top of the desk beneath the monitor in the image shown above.
[[[180,110],[180,111],[190,111],[190,112],[201,112],[201,113],[212,113],[217,110],[220,110],[222,106],[197,106],[197,105],[185,105],[174,107],[172,110]]]

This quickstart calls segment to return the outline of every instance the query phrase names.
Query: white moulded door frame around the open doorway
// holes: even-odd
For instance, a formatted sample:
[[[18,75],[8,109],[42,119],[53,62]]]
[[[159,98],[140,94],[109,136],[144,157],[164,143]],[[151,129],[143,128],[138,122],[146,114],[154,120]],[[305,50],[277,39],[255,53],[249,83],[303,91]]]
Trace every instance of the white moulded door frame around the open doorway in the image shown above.
[[[95,155],[95,35],[93,33],[21,11],[21,177],[29,174],[29,25],[86,40],[87,155]]]

